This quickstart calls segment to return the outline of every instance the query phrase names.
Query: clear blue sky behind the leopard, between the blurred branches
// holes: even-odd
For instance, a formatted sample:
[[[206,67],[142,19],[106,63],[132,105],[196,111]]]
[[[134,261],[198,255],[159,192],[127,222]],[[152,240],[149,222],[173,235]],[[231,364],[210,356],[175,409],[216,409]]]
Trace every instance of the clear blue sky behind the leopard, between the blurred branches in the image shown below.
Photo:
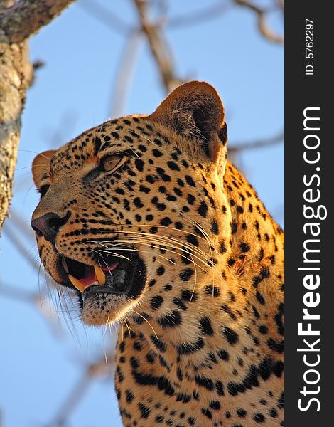
[[[94,7],[92,0],[84,3]],[[186,15],[203,8],[203,3],[170,0],[168,15]],[[97,21],[80,4],[81,0],[31,39],[31,59],[43,60],[45,66],[37,71],[28,91],[12,204],[27,234],[23,236],[17,223],[7,220],[0,240],[0,415],[4,427],[50,425],[80,379],[82,367],[103,354],[113,339],[109,330],[87,329],[77,320],[77,335],[71,334],[61,310],[58,320],[54,307],[50,312],[55,322],[50,327],[31,303],[1,291],[1,287],[11,292],[18,289],[24,297],[45,288],[43,271],[36,273],[9,239],[10,232],[16,233],[29,259],[37,260],[33,233],[28,228],[38,201],[30,172],[33,157],[60,147],[111,115],[126,36]],[[131,1],[99,0],[99,4],[134,27],[136,15]],[[271,16],[270,22],[281,29],[279,16]],[[220,93],[230,146],[272,137],[282,130],[284,51],[259,35],[250,11],[232,8],[198,25],[167,27],[166,36],[176,74],[183,79],[206,80]],[[144,38],[139,43],[128,96],[124,107],[117,106],[120,114],[153,112],[165,96]],[[239,167],[281,224],[283,156],[283,144],[278,144],[244,151],[238,158]],[[47,307],[48,297],[43,310]],[[92,382],[66,426],[121,426],[110,380]]]

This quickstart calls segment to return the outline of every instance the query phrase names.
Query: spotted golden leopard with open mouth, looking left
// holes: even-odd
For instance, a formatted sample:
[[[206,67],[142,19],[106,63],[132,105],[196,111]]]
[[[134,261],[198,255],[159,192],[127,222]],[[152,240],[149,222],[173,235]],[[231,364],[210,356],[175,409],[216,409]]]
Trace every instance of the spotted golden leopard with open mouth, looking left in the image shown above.
[[[179,85],[32,172],[46,272],[119,325],[123,426],[284,426],[284,232],[227,159],[217,90]]]

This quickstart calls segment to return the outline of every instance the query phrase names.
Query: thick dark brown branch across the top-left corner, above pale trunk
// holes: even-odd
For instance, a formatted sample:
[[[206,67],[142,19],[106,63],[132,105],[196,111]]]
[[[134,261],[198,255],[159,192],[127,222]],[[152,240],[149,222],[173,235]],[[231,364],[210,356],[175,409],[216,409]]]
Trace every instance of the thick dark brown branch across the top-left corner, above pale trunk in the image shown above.
[[[0,12],[1,28],[11,43],[21,43],[52,21],[74,0],[21,0]]]

